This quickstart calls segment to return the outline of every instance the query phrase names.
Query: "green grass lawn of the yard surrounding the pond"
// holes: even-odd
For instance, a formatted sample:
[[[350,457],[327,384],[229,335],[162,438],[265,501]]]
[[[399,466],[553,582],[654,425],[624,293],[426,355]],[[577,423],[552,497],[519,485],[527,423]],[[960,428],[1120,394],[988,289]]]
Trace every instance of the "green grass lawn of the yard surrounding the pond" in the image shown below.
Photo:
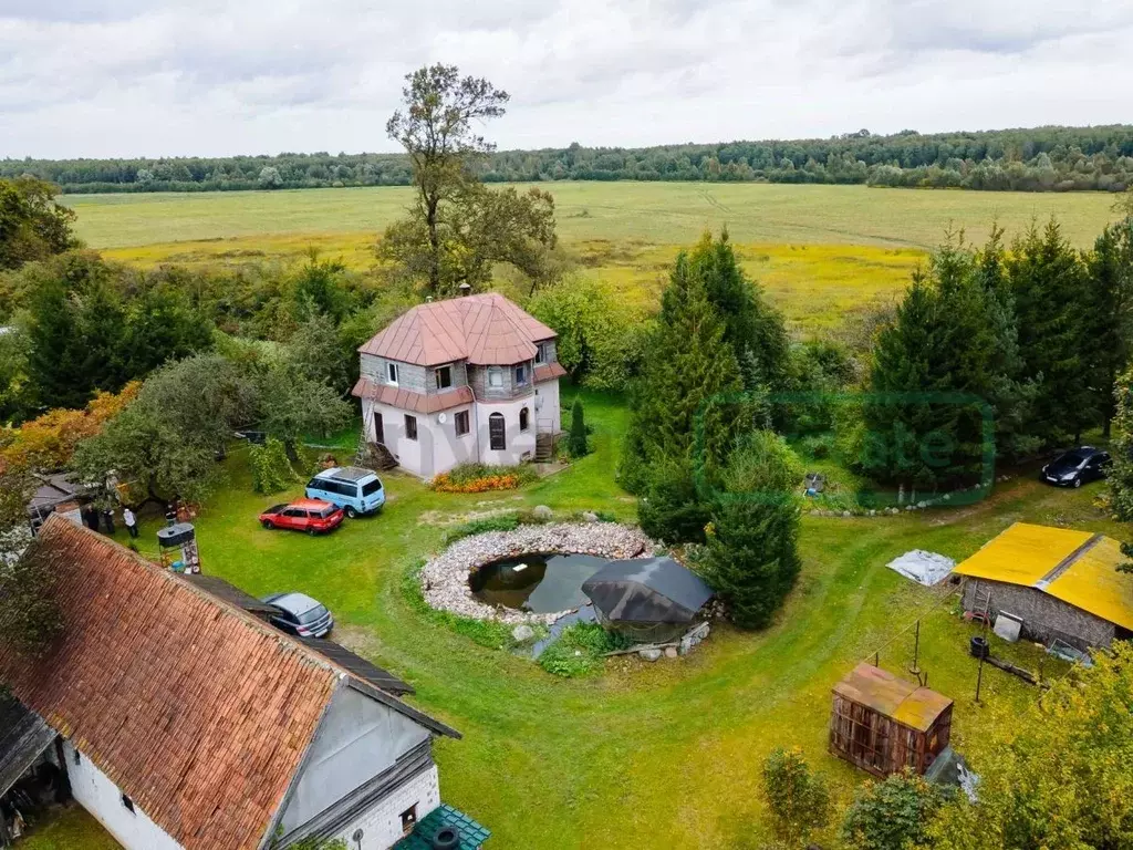
[[[495,850],[763,847],[758,777],[776,746],[801,746],[847,800],[864,774],[826,754],[830,688],[875,651],[883,666],[908,668],[919,614],[920,665],[956,700],[954,741],[978,766],[987,732],[1036,691],[988,668],[983,703],[974,705],[971,627],[939,589],[915,586],[885,563],[911,549],[962,558],[1015,520],[1113,532],[1092,507],[1097,485],[1058,491],[1029,479],[962,509],[808,516],[803,575],[772,628],[721,627],[681,661],[616,660],[599,678],[560,680],[424,619],[399,583],[470,512],[542,503],[631,519],[634,503],[613,482],[625,410],[614,398],[585,401],[595,452],[522,491],[442,495],[389,475],[381,516],[309,538],[258,526],[256,513],[281,496],[252,493],[245,454],[235,452],[229,485],[197,522],[206,572],[255,594],[299,589],[320,598],[338,618],[339,640],[412,682],[415,705],[463,732],[436,746],[442,793],[493,830]],[[155,524],[144,530],[152,547]],[[1007,654],[1036,666],[1032,647]],[[1045,669],[1057,672],[1051,663]]]

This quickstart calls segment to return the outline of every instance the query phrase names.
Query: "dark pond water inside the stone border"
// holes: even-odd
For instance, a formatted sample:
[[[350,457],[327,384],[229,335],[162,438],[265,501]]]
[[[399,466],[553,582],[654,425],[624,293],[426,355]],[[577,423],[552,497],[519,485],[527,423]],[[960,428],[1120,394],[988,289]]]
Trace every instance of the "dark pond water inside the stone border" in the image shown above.
[[[595,555],[518,555],[484,564],[468,585],[488,605],[553,614],[586,604],[582,583],[607,563]]]

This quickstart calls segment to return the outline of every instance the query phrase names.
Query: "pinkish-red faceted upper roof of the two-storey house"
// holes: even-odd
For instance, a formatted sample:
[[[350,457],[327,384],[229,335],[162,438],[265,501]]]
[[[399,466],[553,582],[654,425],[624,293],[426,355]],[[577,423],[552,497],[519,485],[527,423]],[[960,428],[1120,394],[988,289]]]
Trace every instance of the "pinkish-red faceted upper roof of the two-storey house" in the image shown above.
[[[420,304],[358,350],[419,366],[467,359],[506,366],[535,357],[555,332],[495,292]]]

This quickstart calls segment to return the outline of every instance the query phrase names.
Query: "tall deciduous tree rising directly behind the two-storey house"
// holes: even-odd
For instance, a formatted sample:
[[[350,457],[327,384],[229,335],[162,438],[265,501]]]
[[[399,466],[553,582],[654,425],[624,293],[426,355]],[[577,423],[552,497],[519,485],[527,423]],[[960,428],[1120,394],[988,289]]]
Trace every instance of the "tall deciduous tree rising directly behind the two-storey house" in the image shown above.
[[[386,131],[409,154],[416,198],[409,218],[386,229],[378,256],[432,296],[453,295],[461,283],[479,288],[500,262],[533,281],[547,277],[554,198],[535,188],[488,189],[475,173],[494,147],[475,125],[502,116],[508,93],[446,65],[420,68],[406,80],[403,109]]]

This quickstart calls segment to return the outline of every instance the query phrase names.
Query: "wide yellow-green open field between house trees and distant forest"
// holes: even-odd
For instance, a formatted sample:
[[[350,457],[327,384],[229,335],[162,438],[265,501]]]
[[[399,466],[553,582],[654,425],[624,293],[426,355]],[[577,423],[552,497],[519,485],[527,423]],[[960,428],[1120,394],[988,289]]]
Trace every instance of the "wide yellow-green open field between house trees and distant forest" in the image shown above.
[[[981,241],[1057,215],[1087,247],[1110,220],[1100,193],[1031,194],[758,184],[543,184],[581,274],[627,303],[656,305],[680,248],[727,227],[747,271],[798,334],[837,324],[901,292],[946,229]],[[144,266],[290,261],[317,248],[351,267],[374,264],[377,235],[400,216],[407,187],[202,194],[75,195],[91,247]]]

